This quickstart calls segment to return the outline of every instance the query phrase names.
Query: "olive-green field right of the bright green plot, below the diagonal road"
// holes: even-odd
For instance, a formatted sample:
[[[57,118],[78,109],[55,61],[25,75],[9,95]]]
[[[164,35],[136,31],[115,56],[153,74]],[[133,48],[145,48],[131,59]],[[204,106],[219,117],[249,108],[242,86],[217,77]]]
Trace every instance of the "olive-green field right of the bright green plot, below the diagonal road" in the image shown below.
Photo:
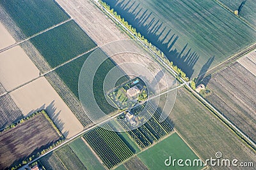
[[[169,118],[177,131],[204,160],[214,157],[216,152],[221,152],[223,159],[237,159],[240,162],[256,161],[255,152],[244,145],[234,132],[184,88],[178,90],[176,103]],[[214,169],[228,168],[214,167]]]

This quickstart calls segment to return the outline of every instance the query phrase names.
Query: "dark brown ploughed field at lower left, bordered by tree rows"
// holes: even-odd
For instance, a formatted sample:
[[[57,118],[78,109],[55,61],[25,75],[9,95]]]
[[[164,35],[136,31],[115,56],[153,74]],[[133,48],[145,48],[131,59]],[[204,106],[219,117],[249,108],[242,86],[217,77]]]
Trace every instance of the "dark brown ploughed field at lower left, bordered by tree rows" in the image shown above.
[[[51,146],[60,135],[43,113],[38,113],[16,127],[0,133],[0,169],[20,164],[22,160]]]

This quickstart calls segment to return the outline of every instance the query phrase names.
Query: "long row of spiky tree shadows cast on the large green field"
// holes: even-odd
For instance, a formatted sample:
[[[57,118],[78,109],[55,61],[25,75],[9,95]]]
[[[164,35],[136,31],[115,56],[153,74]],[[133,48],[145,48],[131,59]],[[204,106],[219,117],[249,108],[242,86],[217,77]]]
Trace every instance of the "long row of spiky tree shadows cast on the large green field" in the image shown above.
[[[157,15],[152,11],[148,11],[136,1],[104,1],[111,8],[114,8],[121,17],[125,18],[132,27],[136,28],[137,32],[140,32],[149,42],[159,48],[168,60],[172,61],[174,65],[182,69],[191,78],[199,55],[189,48],[188,43],[183,48],[179,46],[179,49],[177,49],[175,43],[177,43],[179,35],[175,34],[170,27],[156,18]]]

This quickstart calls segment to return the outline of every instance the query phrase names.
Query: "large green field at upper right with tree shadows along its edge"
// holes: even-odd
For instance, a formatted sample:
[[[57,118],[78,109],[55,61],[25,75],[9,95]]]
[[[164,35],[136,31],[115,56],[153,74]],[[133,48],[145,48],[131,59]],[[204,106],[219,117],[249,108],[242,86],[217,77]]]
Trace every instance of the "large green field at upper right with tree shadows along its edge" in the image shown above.
[[[216,1],[104,2],[189,77],[204,74],[255,43],[255,29]]]

